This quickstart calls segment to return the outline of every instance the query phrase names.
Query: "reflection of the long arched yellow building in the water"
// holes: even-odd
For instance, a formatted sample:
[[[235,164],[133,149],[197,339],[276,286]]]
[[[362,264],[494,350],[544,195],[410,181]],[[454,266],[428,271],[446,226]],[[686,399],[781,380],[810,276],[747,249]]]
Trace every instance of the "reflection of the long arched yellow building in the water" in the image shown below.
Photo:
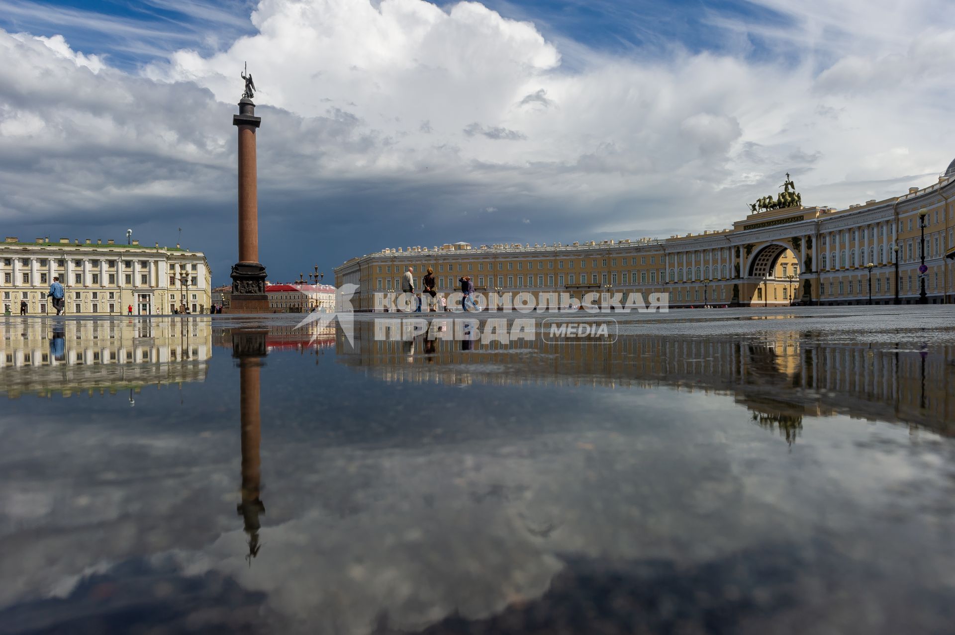
[[[470,343],[469,343],[470,344]],[[423,337],[379,340],[368,323],[352,344],[338,334],[336,356],[393,382],[567,385],[604,388],[675,386],[726,391],[767,427],[795,438],[801,416],[845,413],[928,424],[955,434],[955,347],[832,343],[797,331],[733,339],[621,335],[612,344],[564,339],[473,343]],[[768,417],[768,418],[767,418]]]

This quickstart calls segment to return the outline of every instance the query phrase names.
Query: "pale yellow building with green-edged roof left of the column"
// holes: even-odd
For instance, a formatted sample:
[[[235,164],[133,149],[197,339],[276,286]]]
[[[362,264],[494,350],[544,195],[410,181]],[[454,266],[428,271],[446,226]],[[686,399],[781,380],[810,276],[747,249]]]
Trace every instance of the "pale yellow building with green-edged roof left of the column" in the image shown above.
[[[66,313],[170,314],[180,307],[202,313],[212,302],[211,271],[201,251],[61,238],[0,243],[0,295],[5,311],[55,313],[47,298],[53,277],[66,292]]]

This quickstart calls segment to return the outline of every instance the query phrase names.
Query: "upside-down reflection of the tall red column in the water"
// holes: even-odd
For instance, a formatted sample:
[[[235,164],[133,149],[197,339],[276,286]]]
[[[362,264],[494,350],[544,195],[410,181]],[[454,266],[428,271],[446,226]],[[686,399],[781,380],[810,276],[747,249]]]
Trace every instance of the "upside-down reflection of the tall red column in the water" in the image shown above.
[[[248,554],[245,559],[251,562],[261,547],[259,515],[265,514],[265,505],[259,498],[262,476],[259,459],[259,370],[265,357],[265,330],[234,330],[232,356],[239,359],[239,408],[242,421],[242,502],[237,508],[248,535]]]

